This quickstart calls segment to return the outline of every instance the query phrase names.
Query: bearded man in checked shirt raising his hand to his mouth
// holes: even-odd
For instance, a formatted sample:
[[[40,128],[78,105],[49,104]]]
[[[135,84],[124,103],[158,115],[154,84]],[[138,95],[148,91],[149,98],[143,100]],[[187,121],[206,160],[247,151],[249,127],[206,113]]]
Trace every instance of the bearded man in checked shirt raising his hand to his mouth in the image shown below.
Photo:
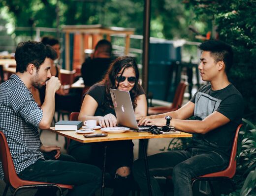
[[[60,147],[43,146],[38,134],[38,127],[47,129],[51,125],[55,93],[61,86],[59,79],[50,73],[51,52],[54,52],[51,47],[40,42],[21,42],[18,45],[16,74],[0,84],[0,131],[7,139],[15,170],[21,179],[70,184],[74,188],[69,196],[90,196],[100,185],[101,172],[97,167],[45,160],[43,154],[54,152],[54,159],[60,157]],[[29,89],[43,85],[46,85],[46,95],[40,108]],[[0,179],[3,179],[1,163]]]

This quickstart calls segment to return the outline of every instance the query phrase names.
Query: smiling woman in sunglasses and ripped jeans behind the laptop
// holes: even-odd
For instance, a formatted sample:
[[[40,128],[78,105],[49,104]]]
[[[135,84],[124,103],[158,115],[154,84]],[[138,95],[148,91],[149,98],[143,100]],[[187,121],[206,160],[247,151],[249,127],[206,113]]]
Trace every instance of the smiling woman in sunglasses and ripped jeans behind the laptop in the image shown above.
[[[123,56],[116,58],[103,80],[88,90],[78,120],[96,120],[97,125],[102,127],[116,126],[110,88],[129,91],[136,117],[147,114],[147,101],[139,84],[137,64],[132,57]],[[128,196],[132,187],[133,143],[131,140],[113,141],[108,142],[107,146],[106,169],[114,179],[113,196]],[[69,153],[79,162],[102,168],[103,148],[102,143],[82,144],[72,141]]]

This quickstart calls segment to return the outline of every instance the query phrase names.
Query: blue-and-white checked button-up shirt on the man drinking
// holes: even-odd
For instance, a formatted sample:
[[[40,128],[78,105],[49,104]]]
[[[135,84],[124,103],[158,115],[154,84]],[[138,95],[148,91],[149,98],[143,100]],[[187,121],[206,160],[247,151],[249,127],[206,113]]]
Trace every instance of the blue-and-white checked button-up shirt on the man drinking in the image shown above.
[[[0,131],[7,139],[16,173],[44,159],[38,133],[42,117],[43,111],[18,75],[0,84]]]

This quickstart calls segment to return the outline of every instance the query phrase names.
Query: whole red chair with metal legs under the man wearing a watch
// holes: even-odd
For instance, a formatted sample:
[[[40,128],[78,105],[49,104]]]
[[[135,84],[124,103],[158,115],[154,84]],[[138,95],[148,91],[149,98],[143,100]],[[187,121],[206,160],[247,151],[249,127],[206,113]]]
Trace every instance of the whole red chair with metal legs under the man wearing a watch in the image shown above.
[[[233,181],[231,180],[231,178],[235,175],[235,172],[236,172],[237,139],[238,139],[238,134],[239,134],[239,131],[240,131],[240,128],[241,128],[242,125],[243,124],[239,124],[237,129],[236,129],[234,142],[233,142],[233,146],[232,146],[232,149],[231,149],[231,155],[230,155],[230,158],[229,158],[228,167],[223,171],[208,173],[208,174],[205,174],[205,175],[202,175],[202,176],[199,176],[199,177],[196,177],[196,178],[192,179],[192,187],[193,187],[194,183],[198,180],[208,181],[210,189],[211,189],[212,196],[215,196],[212,181],[226,179],[226,180],[230,181],[233,191],[235,190],[235,185],[234,185]],[[172,178],[171,176],[167,176],[167,179],[171,179],[171,178]],[[167,183],[167,181],[166,181],[166,183]]]

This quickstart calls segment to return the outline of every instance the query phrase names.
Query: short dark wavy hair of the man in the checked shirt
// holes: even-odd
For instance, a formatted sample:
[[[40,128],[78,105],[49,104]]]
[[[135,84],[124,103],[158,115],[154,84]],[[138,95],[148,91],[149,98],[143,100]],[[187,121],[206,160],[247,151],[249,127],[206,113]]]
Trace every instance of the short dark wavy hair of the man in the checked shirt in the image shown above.
[[[16,72],[26,72],[31,63],[38,69],[45,58],[46,46],[44,44],[35,41],[21,42],[15,52]]]

